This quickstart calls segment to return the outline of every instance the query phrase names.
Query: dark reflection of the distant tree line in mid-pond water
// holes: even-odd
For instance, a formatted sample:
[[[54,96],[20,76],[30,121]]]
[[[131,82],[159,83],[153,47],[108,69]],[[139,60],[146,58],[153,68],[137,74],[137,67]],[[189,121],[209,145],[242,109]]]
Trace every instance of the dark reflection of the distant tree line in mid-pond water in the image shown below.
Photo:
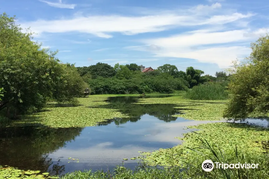
[[[137,98],[134,96],[112,97],[108,99],[110,104],[100,105],[97,108],[117,109],[124,114],[129,114],[133,118],[114,118],[106,122],[99,123],[99,125],[107,125],[114,122],[116,125],[125,124],[128,121],[136,122],[144,114],[155,116],[156,118],[165,121],[175,121],[177,117],[172,115],[180,114],[174,107],[182,106],[177,104],[134,104]]]

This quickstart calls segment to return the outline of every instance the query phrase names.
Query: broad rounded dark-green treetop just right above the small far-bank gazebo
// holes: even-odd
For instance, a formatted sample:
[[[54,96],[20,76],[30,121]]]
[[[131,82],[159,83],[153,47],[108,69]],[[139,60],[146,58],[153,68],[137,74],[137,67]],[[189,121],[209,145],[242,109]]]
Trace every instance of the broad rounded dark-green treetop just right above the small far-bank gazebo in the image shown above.
[[[96,65],[91,65],[89,71],[92,75],[92,78],[97,78],[101,76],[103,78],[110,78],[116,74],[113,67],[105,63],[97,63]]]

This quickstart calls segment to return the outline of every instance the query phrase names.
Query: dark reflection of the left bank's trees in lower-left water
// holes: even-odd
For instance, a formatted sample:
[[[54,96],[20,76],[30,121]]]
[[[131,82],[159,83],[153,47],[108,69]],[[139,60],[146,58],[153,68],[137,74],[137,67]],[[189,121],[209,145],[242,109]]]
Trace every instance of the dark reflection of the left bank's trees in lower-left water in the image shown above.
[[[0,128],[0,164],[60,175],[65,171],[65,166],[59,165],[60,160],[54,163],[47,154],[74,140],[82,129],[35,126]]]

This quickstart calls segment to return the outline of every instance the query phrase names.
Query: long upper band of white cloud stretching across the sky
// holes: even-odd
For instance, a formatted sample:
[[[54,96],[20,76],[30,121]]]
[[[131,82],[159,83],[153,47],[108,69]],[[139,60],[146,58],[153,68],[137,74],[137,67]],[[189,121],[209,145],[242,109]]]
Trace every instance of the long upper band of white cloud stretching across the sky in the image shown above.
[[[199,9],[199,12],[194,9]],[[216,8],[221,8],[220,3],[211,6],[199,5],[189,9],[158,11],[152,15],[140,16],[120,16],[120,15],[76,15],[73,18],[61,18],[56,20],[37,20],[22,22],[22,27],[31,27],[36,33],[65,33],[80,32],[90,33],[102,38],[113,37],[111,33],[122,33],[124,35],[135,35],[139,33],[160,32],[176,27],[227,24],[239,19],[253,16],[253,14],[232,13],[224,14],[224,11],[215,12]],[[202,15],[209,12],[221,15]]]

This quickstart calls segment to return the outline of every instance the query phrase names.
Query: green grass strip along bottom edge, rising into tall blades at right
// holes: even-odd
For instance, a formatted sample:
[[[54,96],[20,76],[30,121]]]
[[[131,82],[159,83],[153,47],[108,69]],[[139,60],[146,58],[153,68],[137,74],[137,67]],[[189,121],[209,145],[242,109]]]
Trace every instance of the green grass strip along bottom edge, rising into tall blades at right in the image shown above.
[[[197,134],[197,133],[196,133]],[[197,134],[199,135],[199,134]],[[215,144],[210,144],[202,137],[197,137],[201,142],[201,146],[196,148],[188,148],[193,151],[192,155],[187,158],[182,158],[185,165],[184,167],[151,167],[146,166],[145,163],[140,163],[137,169],[131,170],[123,166],[117,166],[114,171],[76,171],[68,173],[62,179],[176,179],[176,178],[192,178],[192,179],[261,179],[269,177],[269,155],[268,153],[251,155],[248,151],[239,151],[237,147],[228,152],[223,152]],[[171,158],[171,160],[175,160]],[[214,169],[211,172],[202,170],[202,162],[204,160],[211,160],[219,163],[259,163],[258,169]],[[171,161],[173,163],[173,161]],[[214,164],[215,165],[215,164]]]

